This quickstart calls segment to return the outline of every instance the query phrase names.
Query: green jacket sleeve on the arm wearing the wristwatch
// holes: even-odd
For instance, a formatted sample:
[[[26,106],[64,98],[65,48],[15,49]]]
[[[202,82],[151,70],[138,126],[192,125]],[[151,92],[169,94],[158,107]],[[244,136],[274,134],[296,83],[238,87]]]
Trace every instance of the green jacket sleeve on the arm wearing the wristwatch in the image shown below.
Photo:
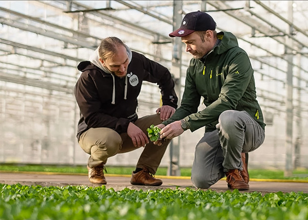
[[[253,77],[254,70],[245,52],[238,52],[230,62],[219,98],[195,114],[185,117],[191,132],[218,120],[220,114],[236,109],[239,100]]]

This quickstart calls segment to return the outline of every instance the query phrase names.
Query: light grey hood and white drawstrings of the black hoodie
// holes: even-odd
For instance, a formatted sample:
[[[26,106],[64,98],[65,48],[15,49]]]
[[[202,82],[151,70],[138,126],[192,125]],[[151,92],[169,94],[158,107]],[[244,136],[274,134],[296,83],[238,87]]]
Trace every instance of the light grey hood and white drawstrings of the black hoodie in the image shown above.
[[[132,52],[129,49],[129,47],[124,44],[125,48],[126,48],[126,52],[127,52],[127,57],[129,60],[129,63],[131,61],[132,58]],[[112,76],[113,79],[113,89],[112,89],[112,102],[111,104],[115,104],[115,77],[113,74],[111,74],[111,72],[109,71],[109,69],[107,69],[106,67],[103,66],[103,64],[100,61],[100,54],[99,54],[99,48],[100,46],[98,46],[98,48],[96,50],[94,50],[94,52],[91,54],[89,61],[91,63],[93,63],[95,66],[97,66],[98,68],[102,69],[104,72],[106,72],[107,74],[110,74]],[[126,95],[127,95],[127,75],[125,76],[125,89],[124,89],[124,99],[126,99]]]

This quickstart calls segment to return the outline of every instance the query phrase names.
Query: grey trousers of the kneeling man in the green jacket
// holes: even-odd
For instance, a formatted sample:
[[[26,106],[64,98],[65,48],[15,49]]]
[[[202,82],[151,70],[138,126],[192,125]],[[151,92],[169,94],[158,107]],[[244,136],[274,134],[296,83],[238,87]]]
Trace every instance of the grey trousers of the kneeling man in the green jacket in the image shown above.
[[[191,181],[197,188],[209,188],[228,170],[242,170],[241,153],[256,150],[265,138],[262,127],[245,111],[223,112],[216,128],[196,146]]]

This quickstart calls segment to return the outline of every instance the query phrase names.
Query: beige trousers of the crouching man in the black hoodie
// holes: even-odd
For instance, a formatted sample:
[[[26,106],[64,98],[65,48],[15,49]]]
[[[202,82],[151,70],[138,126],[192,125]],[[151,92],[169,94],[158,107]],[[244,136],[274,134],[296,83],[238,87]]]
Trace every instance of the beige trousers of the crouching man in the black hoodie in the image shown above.
[[[161,122],[160,115],[155,114],[139,118],[134,124],[140,127],[147,136],[146,129],[151,124],[158,125]],[[151,173],[155,174],[169,142],[170,140],[166,140],[163,145],[158,146],[149,140],[136,167],[146,167]],[[88,160],[90,168],[96,167],[102,162],[106,164],[107,159],[116,154],[138,149],[138,147],[133,145],[127,133],[120,135],[107,127],[90,128],[85,131],[80,137],[79,144],[86,153],[91,155]]]

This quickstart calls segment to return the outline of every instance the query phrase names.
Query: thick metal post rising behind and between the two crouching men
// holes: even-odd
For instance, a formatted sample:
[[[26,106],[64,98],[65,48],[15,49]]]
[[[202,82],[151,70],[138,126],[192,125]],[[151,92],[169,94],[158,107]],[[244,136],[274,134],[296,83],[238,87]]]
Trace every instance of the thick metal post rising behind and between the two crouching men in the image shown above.
[[[174,0],[174,15],[173,15],[173,30],[176,30],[180,27],[182,22],[182,1]],[[182,44],[180,38],[174,38],[174,49],[172,53],[172,67],[171,73],[175,77],[176,86],[175,90],[179,96],[178,104],[181,103],[181,64],[182,64]],[[168,165],[168,173],[170,176],[179,176],[181,175],[180,171],[180,137],[172,139],[169,144],[170,150],[170,162]]]

